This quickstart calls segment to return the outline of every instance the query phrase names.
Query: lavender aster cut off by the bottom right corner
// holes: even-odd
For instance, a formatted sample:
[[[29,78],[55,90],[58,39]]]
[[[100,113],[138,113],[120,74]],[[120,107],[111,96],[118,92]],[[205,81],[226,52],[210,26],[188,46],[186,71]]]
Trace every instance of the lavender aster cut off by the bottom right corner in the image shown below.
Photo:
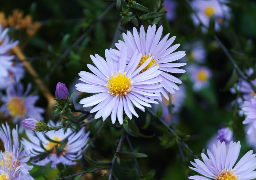
[[[213,152],[209,149],[207,154],[209,158],[201,153],[203,161],[195,159],[191,164],[195,167],[190,169],[200,173],[202,176],[190,176],[194,180],[250,180],[256,178],[256,158],[253,151],[248,151],[237,163],[241,149],[240,142],[230,142],[226,150],[225,141],[217,146],[213,145]]]

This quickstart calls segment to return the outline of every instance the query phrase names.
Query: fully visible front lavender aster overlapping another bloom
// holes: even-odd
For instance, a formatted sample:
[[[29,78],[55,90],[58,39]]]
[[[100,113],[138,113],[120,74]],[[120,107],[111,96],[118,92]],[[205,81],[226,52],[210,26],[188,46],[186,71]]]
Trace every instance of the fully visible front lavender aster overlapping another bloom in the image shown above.
[[[123,124],[123,111],[130,119],[132,119],[132,114],[138,117],[133,104],[142,111],[145,111],[143,106],[151,107],[148,103],[158,104],[154,99],[160,95],[154,93],[161,91],[162,87],[161,84],[155,84],[162,80],[157,77],[161,73],[158,70],[159,66],[150,64],[152,57],[148,57],[138,67],[142,54],[138,55],[137,50],[130,58],[129,64],[126,65],[127,54],[126,48],[123,48],[121,57],[116,61],[111,58],[110,52],[106,49],[107,61],[96,54],[95,57],[91,55],[91,59],[97,68],[87,64],[95,75],[85,71],[79,73],[80,80],[85,83],[76,84],[76,89],[87,93],[98,93],[80,101],[80,104],[84,104],[83,107],[98,104],[90,111],[90,113],[98,111],[95,119],[102,116],[105,121],[111,114],[113,124],[116,117],[119,123]],[[149,64],[150,67],[143,70]]]

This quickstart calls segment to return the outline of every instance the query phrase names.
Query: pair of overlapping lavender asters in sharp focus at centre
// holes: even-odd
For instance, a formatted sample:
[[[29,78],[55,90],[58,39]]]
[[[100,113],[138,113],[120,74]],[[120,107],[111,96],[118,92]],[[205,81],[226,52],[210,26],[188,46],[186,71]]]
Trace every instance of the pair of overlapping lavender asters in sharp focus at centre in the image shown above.
[[[134,28],[133,34],[123,33],[124,41],[115,44],[117,49],[105,50],[106,60],[98,54],[91,55],[96,67],[87,66],[94,74],[81,71],[80,80],[84,83],[76,84],[76,89],[98,93],[80,101],[83,107],[97,104],[90,111],[97,112],[95,119],[102,117],[105,121],[111,115],[112,123],[117,118],[123,124],[123,111],[130,119],[132,115],[138,117],[133,105],[145,111],[145,107],[151,107],[149,103],[158,104],[155,100],[162,100],[161,94],[169,100],[166,91],[174,94],[179,90],[175,83],[182,82],[169,73],[186,72],[176,68],[186,63],[172,63],[182,58],[185,51],[174,52],[180,44],[170,46],[175,37],[168,39],[167,34],[161,39],[162,30],[162,26],[157,31],[155,25],[148,26],[145,35],[143,26],[140,34]]]

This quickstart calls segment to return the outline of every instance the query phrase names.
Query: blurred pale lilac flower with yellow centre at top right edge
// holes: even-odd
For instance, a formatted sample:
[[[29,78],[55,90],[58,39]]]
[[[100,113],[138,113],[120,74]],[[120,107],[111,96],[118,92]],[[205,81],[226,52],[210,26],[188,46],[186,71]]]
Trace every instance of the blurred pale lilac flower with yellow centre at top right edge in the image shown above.
[[[228,1],[225,0],[193,0],[191,5],[196,11],[199,19],[204,24],[204,26],[209,27],[210,19],[215,19],[215,30],[219,31],[221,25],[224,23],[226,25],[228,22],[223,22],[225,19],[230,19],[230,8],[225,4]],[[195,14],[192,14],[192,19],[195,25],[199,25]],[[204,32],[207,31],[202,27]]]

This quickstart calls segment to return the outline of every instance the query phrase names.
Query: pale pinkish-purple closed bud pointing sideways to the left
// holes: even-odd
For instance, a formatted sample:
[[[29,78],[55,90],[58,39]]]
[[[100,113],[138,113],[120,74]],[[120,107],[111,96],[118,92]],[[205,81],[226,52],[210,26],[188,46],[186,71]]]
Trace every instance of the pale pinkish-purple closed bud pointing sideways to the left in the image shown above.
[[[33,118],[24,119],[21,124],[24,128],[33,130],[33,131],[46,131],[48,130],[48,126],[45,122],[39,121]]]

